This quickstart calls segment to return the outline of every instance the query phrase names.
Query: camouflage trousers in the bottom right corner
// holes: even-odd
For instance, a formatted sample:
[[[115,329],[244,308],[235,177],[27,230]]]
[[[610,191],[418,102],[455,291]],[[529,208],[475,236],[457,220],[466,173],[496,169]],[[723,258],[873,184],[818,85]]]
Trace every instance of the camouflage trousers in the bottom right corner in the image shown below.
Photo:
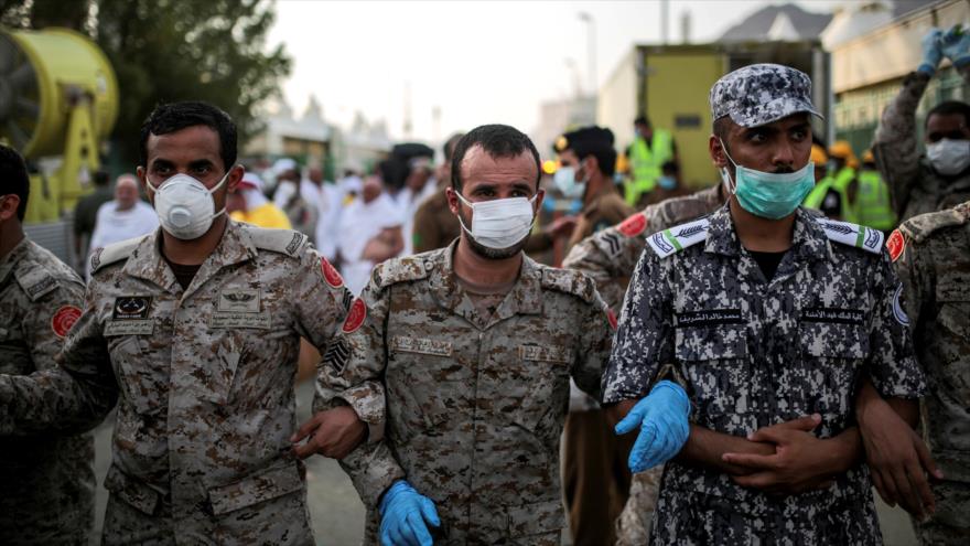
[[[936,513],[926,523],[913,521],[919,544],[970,544],[970,483],[936,482],[933,494]]]

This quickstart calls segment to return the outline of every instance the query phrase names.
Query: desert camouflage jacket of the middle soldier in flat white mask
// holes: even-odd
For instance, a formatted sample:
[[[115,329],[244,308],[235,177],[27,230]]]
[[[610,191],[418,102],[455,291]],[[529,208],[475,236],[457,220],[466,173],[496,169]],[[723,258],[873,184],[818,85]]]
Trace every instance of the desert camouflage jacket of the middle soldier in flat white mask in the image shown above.
[[[367,505],[367,544],[381,494],[406,478],[438,506],[436,544],[559,545],[569,379],[599,398],[605,304],[581,274],[524,257],[483,317],[455,279],[456,244],[375,268],[327,350],[314,409],[342,399],[386,422],[381,441],[342,461]],[[360,407],[375,399],[386,415],[382,404]]]

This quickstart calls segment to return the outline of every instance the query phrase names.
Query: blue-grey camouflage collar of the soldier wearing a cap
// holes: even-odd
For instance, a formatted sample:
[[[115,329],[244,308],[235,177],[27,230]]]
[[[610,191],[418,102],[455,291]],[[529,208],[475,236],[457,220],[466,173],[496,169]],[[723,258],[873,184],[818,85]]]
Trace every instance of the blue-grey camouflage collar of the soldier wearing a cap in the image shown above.
[[[714,211],[709,217],[708,240],[704,251],[722,254],[724,256],[737,256],[741,253],[741,244],[734,231],[734,222],[731,218],[731,206],[724,204]],[[805,208],[795,211],[795,231],[791,234],[791,249],[809,259],[827,259],[829,255],[829,239],[824,229],[815,221]]]

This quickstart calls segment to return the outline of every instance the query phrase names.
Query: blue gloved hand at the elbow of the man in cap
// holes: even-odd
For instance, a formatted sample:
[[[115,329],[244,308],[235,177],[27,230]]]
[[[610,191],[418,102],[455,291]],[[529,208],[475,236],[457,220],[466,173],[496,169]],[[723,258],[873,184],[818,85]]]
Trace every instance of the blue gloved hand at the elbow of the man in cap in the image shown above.
[[[655,385],[616,425],[617,435],[640,428],[629,452],[629,470],[643,472],[672,459],[690,435],[688,415],[690,399],[680,385],[669,381]]]

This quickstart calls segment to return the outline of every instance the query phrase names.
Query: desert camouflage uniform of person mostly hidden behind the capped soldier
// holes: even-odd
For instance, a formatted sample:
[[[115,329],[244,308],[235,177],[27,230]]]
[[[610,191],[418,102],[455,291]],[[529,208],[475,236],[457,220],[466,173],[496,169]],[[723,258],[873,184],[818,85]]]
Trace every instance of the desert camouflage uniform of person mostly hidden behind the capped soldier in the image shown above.
[[[570,250],[562,267],[578,269],[593,279],[603,299],[619,314],[629,276],[647,246],[647,236],[714,212],[724,204],[720,188],[647,206],[622,224],[584,238]],[[664,467],[658,465],[633,475],[629,497],[616,521],[617,546],[649,544],[650,518],[657,507],[662,472]]]

